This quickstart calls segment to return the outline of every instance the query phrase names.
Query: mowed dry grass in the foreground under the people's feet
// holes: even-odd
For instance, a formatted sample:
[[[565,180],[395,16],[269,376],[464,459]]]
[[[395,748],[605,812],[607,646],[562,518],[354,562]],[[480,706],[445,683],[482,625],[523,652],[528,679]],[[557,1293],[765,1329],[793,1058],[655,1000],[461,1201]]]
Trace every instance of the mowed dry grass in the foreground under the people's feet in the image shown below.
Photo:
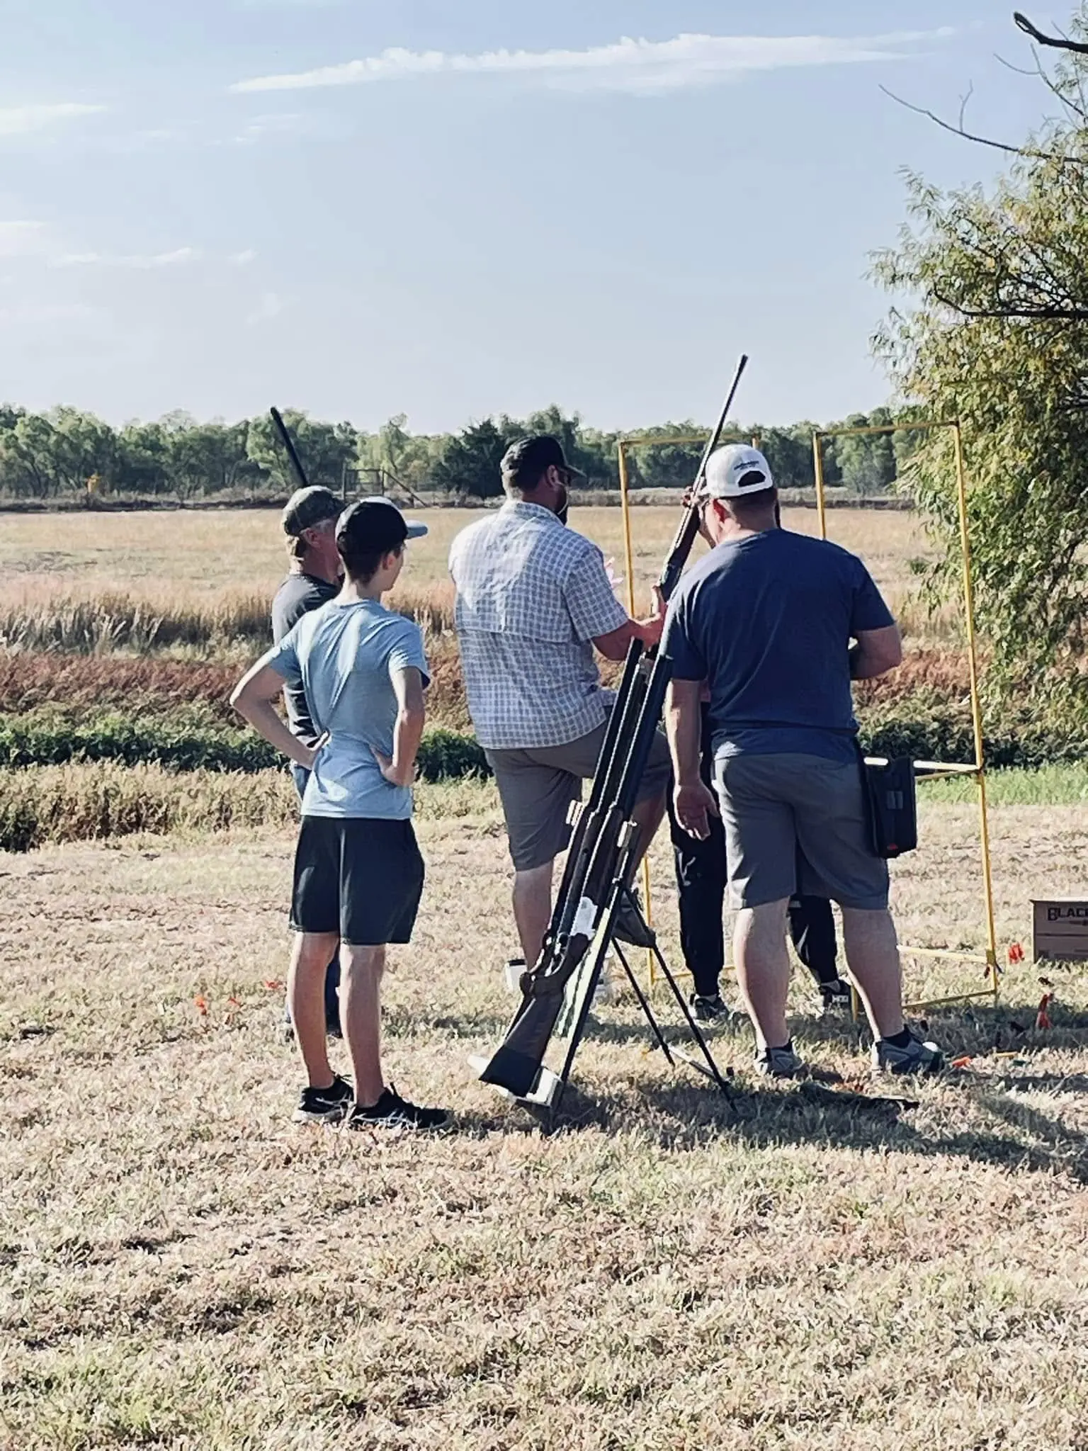
[[[287,1122],[289,831],[0,858],[0,1445],[1082,1447],[1082,969],[1047,966],[1049,1030],[1031,966],[997,1008],[934,1014],[970,1062],[891,1088],[799,978],[815,1077],[757,1084],[727,1032],[728,1098],[624,1001],[543,1136],[466,1066],[512,1008],[505,843],[471,789],[421,820],[386,990],[390,1077],[457,1111],[437,1140]],[[924,805],[904,940],[981,948],[972,826]],[[1084,891],[1088,824],[998,807],[994,839],[1004,946],[1031,895]],[[943,985],[921,971],[911,991]]]

